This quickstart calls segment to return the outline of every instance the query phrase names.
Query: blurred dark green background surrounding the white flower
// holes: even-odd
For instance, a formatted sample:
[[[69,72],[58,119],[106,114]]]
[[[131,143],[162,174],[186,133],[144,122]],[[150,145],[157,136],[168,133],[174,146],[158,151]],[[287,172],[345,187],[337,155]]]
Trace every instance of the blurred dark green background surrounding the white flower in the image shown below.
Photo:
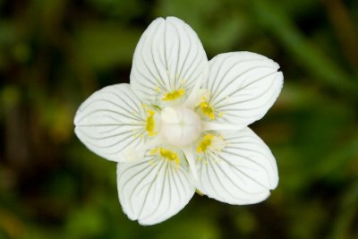
[[[195,195],[139,226],[117,199],[115,163],[74,136],[95,90],[129,82],[141,33],[175,15],[209,58],[247,50],[285,75],[251,128],[277,158],[268,201]],[[358,1],[0,0],[0,238],[358,238]]]

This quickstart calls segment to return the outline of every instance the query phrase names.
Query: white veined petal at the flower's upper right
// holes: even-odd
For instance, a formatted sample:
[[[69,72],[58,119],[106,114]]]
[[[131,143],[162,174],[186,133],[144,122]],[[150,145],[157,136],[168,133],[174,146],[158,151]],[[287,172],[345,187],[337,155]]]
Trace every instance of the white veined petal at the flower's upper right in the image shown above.
[[[232,52],[209,62],[209,104],[221,113],[217,121],[248,125],[259,120],[276,101],[283,84],[279,65],[266,56]]]

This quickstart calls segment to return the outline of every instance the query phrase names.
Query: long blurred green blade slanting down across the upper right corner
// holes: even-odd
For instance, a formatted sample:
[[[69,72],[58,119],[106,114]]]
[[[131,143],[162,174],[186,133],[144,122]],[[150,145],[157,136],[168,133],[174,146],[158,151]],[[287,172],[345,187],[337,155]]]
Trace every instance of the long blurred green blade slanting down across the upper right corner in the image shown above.
[[[336,62],[320,49],[319,44],[304,38],[279,4],[266,0],[252,2],[258,21],[279,39],[297,64],[317,77],[318,81],[344,92],[357,92],[358,86]]]

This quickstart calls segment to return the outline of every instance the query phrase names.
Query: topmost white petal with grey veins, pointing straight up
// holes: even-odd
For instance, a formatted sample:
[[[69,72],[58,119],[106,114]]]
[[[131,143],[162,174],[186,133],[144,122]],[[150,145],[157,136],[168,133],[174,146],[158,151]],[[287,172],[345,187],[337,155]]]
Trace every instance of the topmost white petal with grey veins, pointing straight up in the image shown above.
[[[208,67],[200,39],[188,24],[175,17],[158,18],[144,31],[135,49],[132,89],[141,100],[158,105],[165,103],[165,93],[181,88],[184,99],[195,81],[207,76]]]

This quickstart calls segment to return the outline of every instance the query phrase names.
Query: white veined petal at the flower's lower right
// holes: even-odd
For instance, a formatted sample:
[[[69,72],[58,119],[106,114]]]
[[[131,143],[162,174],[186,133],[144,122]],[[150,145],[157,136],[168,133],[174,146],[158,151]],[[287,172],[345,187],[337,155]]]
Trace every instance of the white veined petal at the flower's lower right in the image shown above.
[[[265,200],[277,187],[275,158],[268,146],[249,128],[224,135],[224,149],[208,150],[197,160],[197,188],[203,194],[230,204]]]

